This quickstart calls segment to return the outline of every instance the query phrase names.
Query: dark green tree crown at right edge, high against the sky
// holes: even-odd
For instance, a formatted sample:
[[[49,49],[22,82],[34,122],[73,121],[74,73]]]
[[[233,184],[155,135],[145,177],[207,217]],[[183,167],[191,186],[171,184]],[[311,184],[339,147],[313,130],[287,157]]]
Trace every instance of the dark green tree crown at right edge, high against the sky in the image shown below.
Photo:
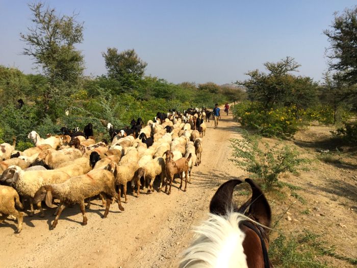
[[[330,70],[342,72],[341,78],[348,84],[357,83],[357,6],[335,14],[332,29],[323,33],[330,42],[327,56]]]

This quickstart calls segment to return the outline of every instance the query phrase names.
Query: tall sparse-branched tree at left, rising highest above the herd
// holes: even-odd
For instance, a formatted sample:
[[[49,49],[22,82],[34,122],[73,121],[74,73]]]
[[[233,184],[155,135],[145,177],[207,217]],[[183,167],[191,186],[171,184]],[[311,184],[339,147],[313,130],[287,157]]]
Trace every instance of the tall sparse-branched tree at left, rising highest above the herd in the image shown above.
[[[74,45],[83,41],[83,22],[75,20],[77,14],[59,16],[54,8],[43,3],[30,4],[32,22],[28,33],[20,33],[28,47],[23,55],[31,56],[37,68],[48,79],[43,92],[44,112],[56,99],[68,96],[83,76],[84,58]]]

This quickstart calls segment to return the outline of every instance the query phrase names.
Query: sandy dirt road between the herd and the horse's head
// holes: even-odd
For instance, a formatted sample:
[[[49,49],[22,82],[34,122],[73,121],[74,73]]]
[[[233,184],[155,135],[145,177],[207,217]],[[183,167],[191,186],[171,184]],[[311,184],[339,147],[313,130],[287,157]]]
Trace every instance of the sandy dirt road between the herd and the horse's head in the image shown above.
[[[202,163],[194,167],[187,192],[173,184],[164,192],[129,196],[125,211],[104,209],[92,202],[88,225],[82,226],[78,206],[66,208],[55,230],[50,231],[53,209],[45,218],[24,217],[21,234],[14,235],[14,222],[0,228],[1,267],[175,267],[177,257],[192,237],[191,228],[206,218],[209,202],[218,186],[242,170],[228,159],[229,139],[237,136],[232,115],[222,112],[219,128],[207,124]],[[157,186],[157,185],[156,185]]]

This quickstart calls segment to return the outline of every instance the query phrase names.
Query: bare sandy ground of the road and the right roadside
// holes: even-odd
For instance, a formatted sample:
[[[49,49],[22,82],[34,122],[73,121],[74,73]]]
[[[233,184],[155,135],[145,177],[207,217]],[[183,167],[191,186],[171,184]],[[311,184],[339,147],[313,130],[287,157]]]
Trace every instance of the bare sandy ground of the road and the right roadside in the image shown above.
[[[212,120],[206,124],[202,163],[193,169],[187,192],[178,190],[180,184],[176,179],[170,196],[164,192],[147,195],[141,191],[139,198],[129,196],[123,212],[113,204],[106,219],[101,218],[104,209],[99,201],[93,201],[87,213],[87,226],[81,225],[78,206],[66,208],[52,231],[49,226],[54,218],[53,209],[47,209],[44,219],[38,215],[25,216],[23,230],[18,235],[13,234],[15,222],[7,220],[0,225],[0,267],[176,267],[179,254],[192,238],[192,227],[207,217],[209,202],[218,186],[246,175],[229,161],[229,139],[239,137],[236,131],[239,124],[232,115],[222,113],[218,129],[213,129]],[[304,137],[310,136],[300,133],[297,139],[303,142]],[[302,144],[297,145],[314,156]],[[324,231],[328,234],[327,244],[336,245],[338,253],[356,257],[357,179],[353,176],[357,172],[353,168],[321,163],[316,167],[298,177],[283,178],[303,188],[298,193],[307,204],[295,203],[289,210],[294,220],[288,222],[283,217],[279,230]],[[238,199],[243,201],[247,197]],[[292,197],[285,201],[271,200],[274,218],[285,213],[293,201]],[[299,212],[306,208],[311,213],[301,215]],[[349,267],[345,261],[329,261]]]

